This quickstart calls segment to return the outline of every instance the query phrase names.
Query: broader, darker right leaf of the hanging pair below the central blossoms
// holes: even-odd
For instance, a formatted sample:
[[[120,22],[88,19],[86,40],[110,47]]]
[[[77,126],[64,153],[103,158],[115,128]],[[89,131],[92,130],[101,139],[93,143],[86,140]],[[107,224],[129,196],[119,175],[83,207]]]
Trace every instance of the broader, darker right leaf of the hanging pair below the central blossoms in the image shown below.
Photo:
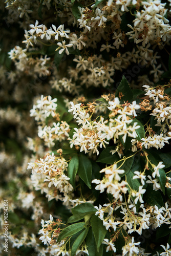
[[[79,167],[78,175],[83,180],[86,185],[91,188],[91,179],[92,179],[92,163],[88,157],[84,155],[79,155]]]

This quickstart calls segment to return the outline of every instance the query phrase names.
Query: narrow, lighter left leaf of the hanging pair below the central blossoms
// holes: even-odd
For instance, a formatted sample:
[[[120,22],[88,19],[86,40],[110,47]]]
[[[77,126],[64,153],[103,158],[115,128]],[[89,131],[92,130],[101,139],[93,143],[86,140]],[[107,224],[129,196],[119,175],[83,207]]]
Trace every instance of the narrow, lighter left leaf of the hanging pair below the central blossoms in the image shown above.
[[[75,188],[75,176],[78,172],[79,159],[78,155],[74,155],[68,165],[68,177],[71,185]]]

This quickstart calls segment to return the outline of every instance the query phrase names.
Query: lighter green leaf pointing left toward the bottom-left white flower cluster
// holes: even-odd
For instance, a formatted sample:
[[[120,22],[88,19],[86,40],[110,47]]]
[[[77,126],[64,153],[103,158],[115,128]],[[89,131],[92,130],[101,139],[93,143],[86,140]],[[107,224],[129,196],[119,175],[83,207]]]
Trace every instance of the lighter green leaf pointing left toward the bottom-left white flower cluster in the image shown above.
[[[73,234],[78,233],[84,228],[85,222],[78,222],[72,224],[61,231],[58,236],[57,242],[60,242],[62,239],[72,236]]]

